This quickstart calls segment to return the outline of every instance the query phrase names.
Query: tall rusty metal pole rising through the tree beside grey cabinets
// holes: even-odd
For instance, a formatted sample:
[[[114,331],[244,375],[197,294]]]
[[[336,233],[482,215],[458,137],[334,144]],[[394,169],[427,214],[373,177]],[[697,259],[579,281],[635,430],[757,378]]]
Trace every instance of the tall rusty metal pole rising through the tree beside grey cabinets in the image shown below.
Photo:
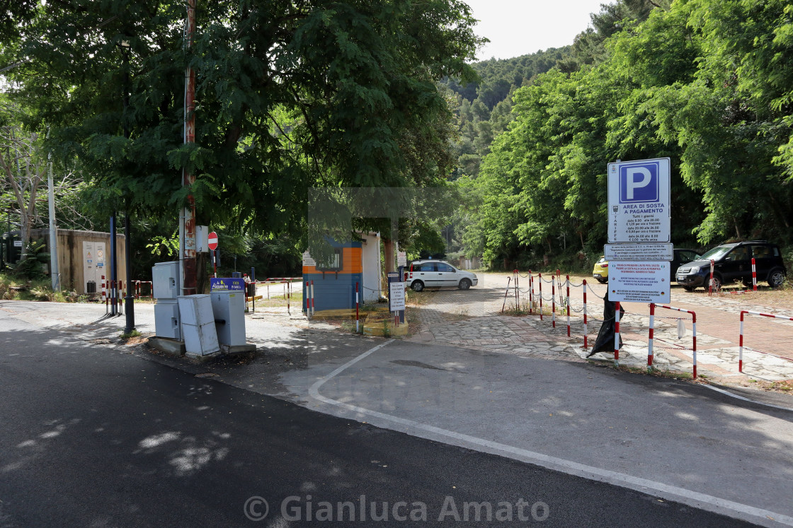
[[[193,46],[193,35],[196,26],[196,0],[187,0],[187,20],[185,23],[185,47],[190,49]],[[185,127],[184,141],[188,145],[195,142],[195,70],[190,66],[190,57],[187,58],[185,70]],[[190,187],[195,183],[195,174],[188,167],[182,168],[182,187]],[[182,295],[196,294],[197,292],[197,265],[196,265],[196,220],[195,220],[195,201],[193,195],[187,197],[187,207],[185,207],[180,227],[182,228],[182,240],[180,249],[180,260],[182,260]]]

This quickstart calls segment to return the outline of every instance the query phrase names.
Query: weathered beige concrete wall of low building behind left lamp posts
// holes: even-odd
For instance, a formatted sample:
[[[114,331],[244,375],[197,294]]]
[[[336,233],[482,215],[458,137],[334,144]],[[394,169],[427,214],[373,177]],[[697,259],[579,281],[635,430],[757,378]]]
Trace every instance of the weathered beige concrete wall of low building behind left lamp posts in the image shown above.
[[[30,237],[32,240],[46,241],[47,250],[49,251],[49,230],[31,230]],[[102,292],[100,276],[105,275],[108,279],[110,276],[110,234],[100,231],[58,230],[60,287],[63,290],[74,290],[78,294],[86,293],[86,266],[90,264],[86,263],[85,254],[83,253],[83,242],[105,243],[105,265],[102,266],[105,272],[99,269],[96,272],[97,293],[100,294]],[[116,276],[117,279],[124,280],[126,278],[126,266],[123,234],[116,234],[116,251],[118,264]],[[95,261],[95,256],[91,260]],[[47,266],[47,273],[49,273],[49,266]]]

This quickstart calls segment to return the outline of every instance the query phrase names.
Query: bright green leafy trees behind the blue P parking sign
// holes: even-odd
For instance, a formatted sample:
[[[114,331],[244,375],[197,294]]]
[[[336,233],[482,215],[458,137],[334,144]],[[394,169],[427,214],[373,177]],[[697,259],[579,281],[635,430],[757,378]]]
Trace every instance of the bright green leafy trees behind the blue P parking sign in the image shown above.
[[[672,158],[676,245],[789,243],[789,2],[620,0],[592,25],[557,67],[515,89],[504,131],[495,109],[490,127],[463,129],[475,135],[459,156],[476,196],[462,207],[473,218],[465,250],[499,265],[598,254],[607,163],[659,157]],[[477,121],[477,108],[461,103],[461,120]]]

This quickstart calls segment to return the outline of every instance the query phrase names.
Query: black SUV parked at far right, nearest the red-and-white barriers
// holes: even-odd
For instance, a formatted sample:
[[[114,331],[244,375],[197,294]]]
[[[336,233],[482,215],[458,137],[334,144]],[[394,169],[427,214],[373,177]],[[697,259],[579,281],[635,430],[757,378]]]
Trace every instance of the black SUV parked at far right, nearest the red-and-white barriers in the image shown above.
[[[711,278],[711,260],[714,261],[713,287],[741,280],[752,283],[752,259],[757,268],[757,280],[764,280],[772,288],[780,287],[785,281],[787,269],[782,253],[776,244],[764,240],[751,240],[722,244],[705,253],[699,260],[683,264],[675,274],[677,283],[687,291],[706,287]]]

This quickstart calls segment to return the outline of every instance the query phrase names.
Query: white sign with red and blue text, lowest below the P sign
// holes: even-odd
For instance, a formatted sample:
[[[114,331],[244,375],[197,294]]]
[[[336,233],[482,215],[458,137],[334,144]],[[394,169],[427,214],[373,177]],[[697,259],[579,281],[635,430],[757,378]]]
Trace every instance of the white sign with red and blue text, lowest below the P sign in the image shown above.
[[[619,302],[671,301],[669,263],[658,261],[608,263],[608,298]]]

